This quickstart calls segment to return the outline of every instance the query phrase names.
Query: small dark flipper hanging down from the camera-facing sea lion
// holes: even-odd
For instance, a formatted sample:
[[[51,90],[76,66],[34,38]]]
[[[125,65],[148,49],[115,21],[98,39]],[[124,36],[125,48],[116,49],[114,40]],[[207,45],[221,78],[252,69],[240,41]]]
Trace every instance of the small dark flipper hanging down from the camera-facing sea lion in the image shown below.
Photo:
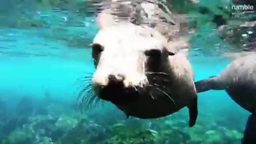
[[[188,106],[189,111],[189,123],[188,126],[192,127],[196,124],[196,119],[198,116],[198,107],[197,107],[197,97],[193,98]]]

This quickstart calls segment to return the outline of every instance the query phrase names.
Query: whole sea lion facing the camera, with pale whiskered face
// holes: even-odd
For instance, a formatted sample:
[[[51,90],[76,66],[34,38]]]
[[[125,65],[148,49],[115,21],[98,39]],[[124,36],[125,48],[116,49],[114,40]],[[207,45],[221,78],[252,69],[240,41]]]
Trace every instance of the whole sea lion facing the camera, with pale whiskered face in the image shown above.
[[[194,72],[183,54],[168,47],[171,43],[153,28],[127,21],[100,29],[92,43],[94,94],[127,117],[159,118],[187,107],[194,126]]]

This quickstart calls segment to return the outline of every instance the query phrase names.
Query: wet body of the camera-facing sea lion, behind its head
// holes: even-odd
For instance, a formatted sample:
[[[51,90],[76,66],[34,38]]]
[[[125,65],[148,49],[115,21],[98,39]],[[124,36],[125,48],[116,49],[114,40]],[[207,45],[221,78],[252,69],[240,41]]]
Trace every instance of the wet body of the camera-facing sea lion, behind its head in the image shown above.
[[[162,92],[150,88],[155,99],[148,94],[140,96],[139,100],[128,106],[118,106],[126,114],[139,118],[158,118],[177,112],[185,106],[190,106],[197,100],[196,90],[194,88],[192,68],[183,56],[173,56],[169,58],[170,70],[167,72],[170,78],[166,79],[168,85],[157,83],[160,88],[166,87],[165,93],[172,97],[175,104]],[[184,64],[184,65],[183,65]],[[156,77],[156,76],[154,76]],[[150,78],[150,77],[148,77]],[[159,77],[158,77],[159,78]],[[160,80],[159,80],[160,81]]]

